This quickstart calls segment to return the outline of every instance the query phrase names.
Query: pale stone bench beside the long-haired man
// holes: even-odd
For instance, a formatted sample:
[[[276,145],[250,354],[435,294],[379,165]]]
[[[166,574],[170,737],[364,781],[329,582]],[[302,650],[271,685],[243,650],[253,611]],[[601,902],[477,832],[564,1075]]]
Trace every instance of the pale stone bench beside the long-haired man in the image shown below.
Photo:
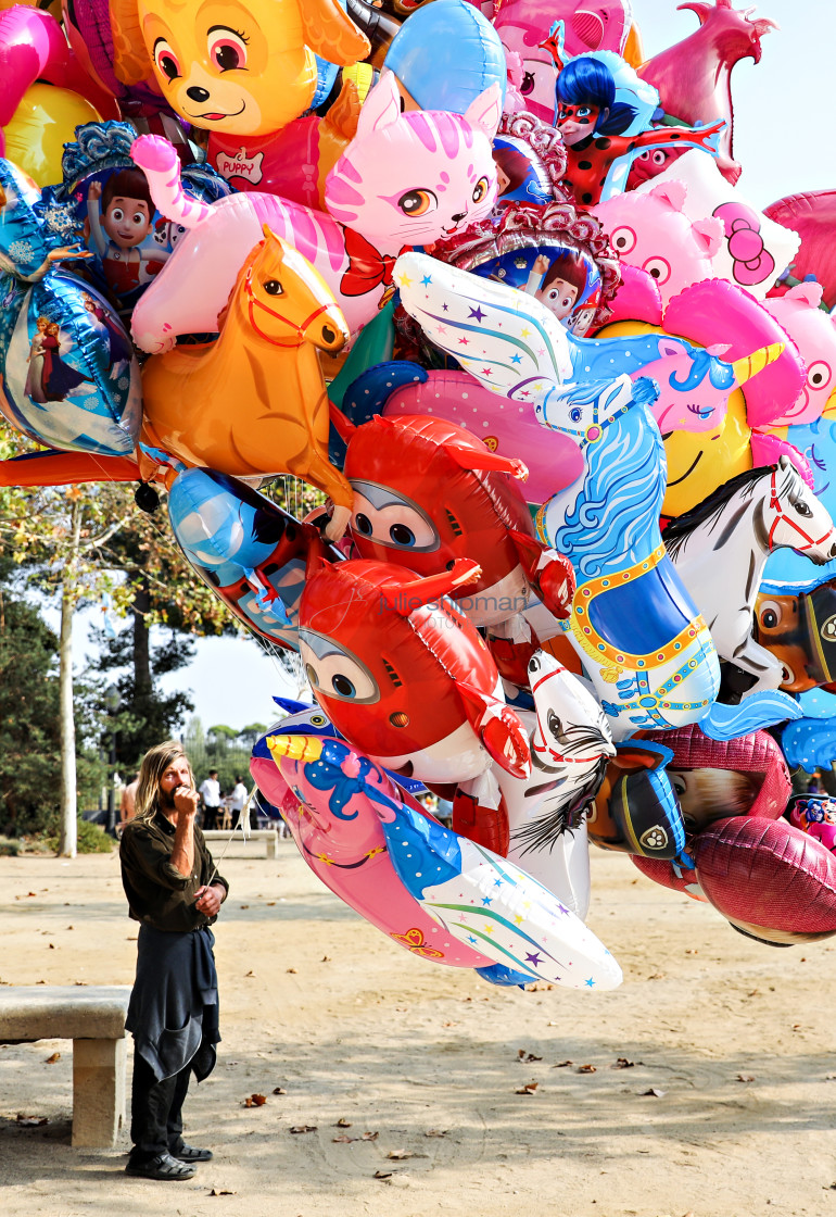
[[[0,1042],[73,1041],[73,1145],[112,1146],[125,1117],[129,985],[0,988]]]

